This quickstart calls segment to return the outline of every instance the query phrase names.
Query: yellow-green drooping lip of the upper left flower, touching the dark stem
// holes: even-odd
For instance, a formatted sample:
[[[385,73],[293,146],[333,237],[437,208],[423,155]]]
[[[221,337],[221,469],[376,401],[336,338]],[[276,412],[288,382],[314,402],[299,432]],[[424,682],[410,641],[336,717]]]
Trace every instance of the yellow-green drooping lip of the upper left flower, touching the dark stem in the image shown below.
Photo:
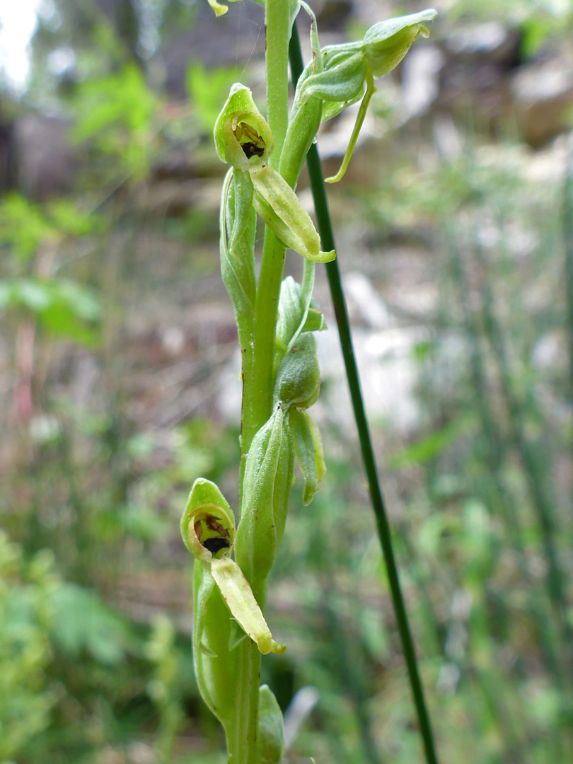
[[[320,237],[310,215],[283,176],[269,165],[251,167],[254,207],[277,238],[307,260],[328,263],[334,250],[322,252]]]

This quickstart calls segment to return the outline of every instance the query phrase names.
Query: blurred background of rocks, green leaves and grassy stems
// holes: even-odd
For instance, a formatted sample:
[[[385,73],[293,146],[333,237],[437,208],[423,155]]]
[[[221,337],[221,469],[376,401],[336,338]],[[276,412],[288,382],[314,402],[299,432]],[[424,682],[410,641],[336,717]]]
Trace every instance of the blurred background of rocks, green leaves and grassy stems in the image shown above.
[[[339,262],[442,764],[573,762],[573,5],[435,5],[329,189]],[[328,44],[423,5],[313,7]],[[198,475],[236,504],[211,131],[235,80],[264,97],[261,10],[14,8],[0,5],[0,762],[222,764],[178,521]],[[11,69],[26,18],[27,74]],[[328,171],[353,121],[324,126]],[[316,294],[328,315],[322,273]],[[293,490],[269,607],[289,649],[264,680],[289,764],[413,764],[329,315],[329,471],[310,507]]]

